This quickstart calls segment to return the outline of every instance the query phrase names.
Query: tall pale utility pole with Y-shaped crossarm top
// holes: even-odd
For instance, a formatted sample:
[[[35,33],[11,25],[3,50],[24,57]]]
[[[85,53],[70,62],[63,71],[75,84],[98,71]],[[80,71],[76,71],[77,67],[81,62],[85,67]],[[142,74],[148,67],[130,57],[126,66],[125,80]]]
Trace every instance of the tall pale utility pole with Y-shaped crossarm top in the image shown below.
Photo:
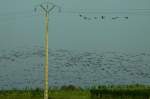
[[[57,7],[59,8],[60,11],[60,7],[50,3],[50,2],[45,2],[42,3],[40,5],[38,5],[37,7],[35,7],[35,11],[37,11],[38,8],[40,8],[40,10],[42,10],[42,12],[44,12],[44,16],[45,16],[45,64],[44,64],[44,99],[48,99],[48,25],[49,25],[49,14],[50,12],[52,12],[54,10],[54,8]]]

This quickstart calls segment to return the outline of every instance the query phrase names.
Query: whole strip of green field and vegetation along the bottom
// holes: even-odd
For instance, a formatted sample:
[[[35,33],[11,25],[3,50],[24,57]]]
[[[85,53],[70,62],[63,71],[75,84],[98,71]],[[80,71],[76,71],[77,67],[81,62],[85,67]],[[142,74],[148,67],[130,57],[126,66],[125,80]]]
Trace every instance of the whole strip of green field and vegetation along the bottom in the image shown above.
[[[35,90],[3,90],[0,99],[43,99],[43,91]],[[50,89],[49,99],[150,99],[150,86],[98,86],[81,89],[65,86]]]

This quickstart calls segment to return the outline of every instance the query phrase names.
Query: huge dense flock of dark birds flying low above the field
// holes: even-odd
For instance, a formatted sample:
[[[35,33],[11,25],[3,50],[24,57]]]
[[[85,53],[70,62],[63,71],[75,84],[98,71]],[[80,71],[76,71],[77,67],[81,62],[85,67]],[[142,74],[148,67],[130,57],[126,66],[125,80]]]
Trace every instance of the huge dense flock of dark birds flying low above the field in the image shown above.
[[[49,50],[49,84],[150,83],[150,53]],[[43,48],[0,55],[0,89],[43,87]]]

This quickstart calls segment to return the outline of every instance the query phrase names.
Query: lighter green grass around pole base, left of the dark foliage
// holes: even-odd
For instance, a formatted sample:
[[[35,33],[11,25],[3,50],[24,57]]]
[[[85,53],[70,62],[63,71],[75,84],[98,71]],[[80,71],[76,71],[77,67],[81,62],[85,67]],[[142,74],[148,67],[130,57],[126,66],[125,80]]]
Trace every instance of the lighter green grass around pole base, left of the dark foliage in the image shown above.
[[[43,91],[40,90],[1,91],[0,99],[43,99]],[[49,99],[90,99],[90,91],[50,90]]]

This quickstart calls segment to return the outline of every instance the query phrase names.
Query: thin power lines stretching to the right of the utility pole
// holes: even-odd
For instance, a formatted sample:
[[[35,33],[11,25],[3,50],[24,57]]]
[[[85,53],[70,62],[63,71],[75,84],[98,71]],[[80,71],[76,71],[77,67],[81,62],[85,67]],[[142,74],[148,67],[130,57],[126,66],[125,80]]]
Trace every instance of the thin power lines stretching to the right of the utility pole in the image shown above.
[[[62,8],[61,13],[66,14],[128,14],[128,15],[150,15],[150,9],[69,9]]]

